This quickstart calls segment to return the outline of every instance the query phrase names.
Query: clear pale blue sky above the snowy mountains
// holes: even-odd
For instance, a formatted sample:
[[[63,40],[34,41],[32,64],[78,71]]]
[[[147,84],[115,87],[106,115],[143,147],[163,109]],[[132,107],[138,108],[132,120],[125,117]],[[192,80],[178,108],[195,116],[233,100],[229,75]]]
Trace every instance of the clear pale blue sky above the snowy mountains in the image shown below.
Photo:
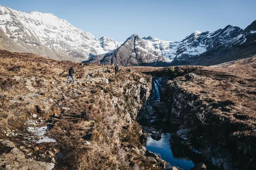
[[[182,40],[196,30],[256,20],[256,0],[0,0],[0,5],[52,13],[96,38],[125,41],[131,34]]]

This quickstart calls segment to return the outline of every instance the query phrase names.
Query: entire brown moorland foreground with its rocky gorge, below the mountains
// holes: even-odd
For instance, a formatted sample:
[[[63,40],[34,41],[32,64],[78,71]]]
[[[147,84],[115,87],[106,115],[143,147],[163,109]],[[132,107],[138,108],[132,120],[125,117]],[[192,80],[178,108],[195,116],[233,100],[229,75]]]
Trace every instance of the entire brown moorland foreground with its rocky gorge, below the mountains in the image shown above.
[[[116,76],[108,65],[0,57],[2,169],[256,166],[255,57],[214,67],[120,67]],[[75,83],[66,82],[71,66]],[[152,151],[157,141],[163,154]]]

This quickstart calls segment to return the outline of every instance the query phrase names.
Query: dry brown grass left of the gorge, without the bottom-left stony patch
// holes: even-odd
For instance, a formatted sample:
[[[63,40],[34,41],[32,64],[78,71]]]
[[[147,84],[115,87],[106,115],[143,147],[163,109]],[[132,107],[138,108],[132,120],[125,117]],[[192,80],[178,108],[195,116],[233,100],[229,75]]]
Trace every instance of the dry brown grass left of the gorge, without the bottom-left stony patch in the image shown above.
[[[49,136],[58,140],[58,146],[65,154],[56,169],[151,167],[144,157],[131,150],[141,146],[140,127],[137,122],[131,122],[123,130],[128,125],[126,115],[130,110],[124,112],[121,109],[129,105],[122,89],[128,88],[129,84],[138,84],[142,77],[150,81],[150,76],[121,68],[114,77],[113,66],[82,66],[3,50],[0,50],[0,65],[1,129],[23,128],[23,122],[33,113],[45,118],[56,113],[59,118],[54,120]],[[71,66],[75,68],[77,85],[66,84]],[[12,79],[14,76],[20,76],[22,80]],[[24,81],[31,77],[36,78],[32,81],[32,89],[27,88]],[[109,83],[97,82],[97,79],[108,79]],[[128,80],[130,82],[126,84]],[[119,108],[113,105],[114,96],[119,98]],[[55,101],[51,103],[49,99]],[[135,99],[131,101],[135,102]],[[62,107],[70,110],[58,109]],[[139,108],[136,107],[130,109],[137,111]],[[84,145],[85,140],[91,144]]]

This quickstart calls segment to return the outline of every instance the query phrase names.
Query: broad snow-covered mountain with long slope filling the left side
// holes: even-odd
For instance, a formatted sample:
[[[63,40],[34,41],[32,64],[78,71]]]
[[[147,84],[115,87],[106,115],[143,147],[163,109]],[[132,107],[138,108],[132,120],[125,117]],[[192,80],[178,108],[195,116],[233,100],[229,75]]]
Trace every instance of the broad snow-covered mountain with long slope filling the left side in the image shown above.
[[[112,43],[112,42],[111,42]],[[0,49],[32,52],[58,60],[81,62],[89,54],[103,54],[101,42],[66,20],[38,11],[29,13],[0,6]]]

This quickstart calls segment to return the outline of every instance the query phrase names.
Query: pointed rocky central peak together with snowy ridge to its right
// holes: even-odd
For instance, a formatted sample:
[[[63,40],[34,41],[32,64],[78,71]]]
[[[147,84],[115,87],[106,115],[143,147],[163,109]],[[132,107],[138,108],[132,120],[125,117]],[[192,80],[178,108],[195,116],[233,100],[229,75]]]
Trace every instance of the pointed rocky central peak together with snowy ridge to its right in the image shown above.
[[[180,42],[163,41],[156,37],[140,37],[137,34],[129,37],[119,48],[102,55],[90,58],[91,63],[109,65],[138,65],[157,61],[172,62],[203,54],[217,48],[243,30],[238,26],[226,26],[214,32],[195,31]]]

